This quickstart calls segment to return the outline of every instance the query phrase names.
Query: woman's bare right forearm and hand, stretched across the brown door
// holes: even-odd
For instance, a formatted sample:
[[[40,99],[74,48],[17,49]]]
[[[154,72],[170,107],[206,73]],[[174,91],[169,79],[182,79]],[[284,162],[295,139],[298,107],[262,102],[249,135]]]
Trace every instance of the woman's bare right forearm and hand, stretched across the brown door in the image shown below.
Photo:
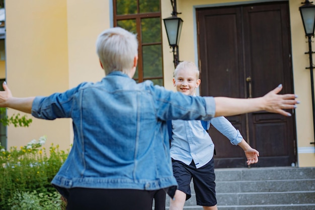
[[[215,116],[232,116],[263,110],[291,116],[284,109],[294,109],[299,102],[294,94],[278,94],[281,90],[282,85],[279,85],[263,97],[250,99],[214,97]]]

